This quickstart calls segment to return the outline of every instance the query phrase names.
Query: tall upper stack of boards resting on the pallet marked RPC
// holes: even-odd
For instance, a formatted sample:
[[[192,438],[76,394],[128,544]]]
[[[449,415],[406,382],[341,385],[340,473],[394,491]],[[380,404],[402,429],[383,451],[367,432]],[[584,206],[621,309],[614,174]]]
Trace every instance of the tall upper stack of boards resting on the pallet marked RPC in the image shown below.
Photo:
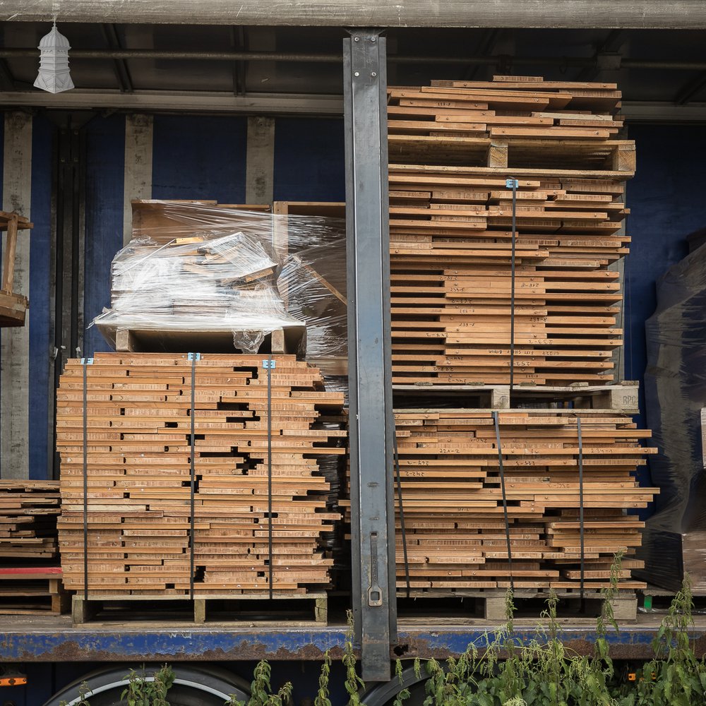
[[[614,381],[620,93],[510,78],[390,89],[394,383],[508,384],[511,348],[514,383]]]

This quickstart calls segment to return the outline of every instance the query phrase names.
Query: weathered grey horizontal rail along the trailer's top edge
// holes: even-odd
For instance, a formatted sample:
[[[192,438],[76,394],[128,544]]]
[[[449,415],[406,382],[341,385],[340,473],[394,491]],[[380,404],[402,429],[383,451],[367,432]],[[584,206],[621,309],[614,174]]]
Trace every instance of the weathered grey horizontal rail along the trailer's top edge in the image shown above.
[[[0,20],[344,27],[706,28],[706,3],[676,0],[0,0]]]

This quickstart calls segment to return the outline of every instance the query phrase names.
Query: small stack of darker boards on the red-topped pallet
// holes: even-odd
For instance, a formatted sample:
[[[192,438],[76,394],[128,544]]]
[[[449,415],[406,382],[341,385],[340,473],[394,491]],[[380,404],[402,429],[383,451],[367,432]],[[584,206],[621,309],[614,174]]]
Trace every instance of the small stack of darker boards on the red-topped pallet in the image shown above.
[[[59,481],[0,481],[0,566],[58,561]]]

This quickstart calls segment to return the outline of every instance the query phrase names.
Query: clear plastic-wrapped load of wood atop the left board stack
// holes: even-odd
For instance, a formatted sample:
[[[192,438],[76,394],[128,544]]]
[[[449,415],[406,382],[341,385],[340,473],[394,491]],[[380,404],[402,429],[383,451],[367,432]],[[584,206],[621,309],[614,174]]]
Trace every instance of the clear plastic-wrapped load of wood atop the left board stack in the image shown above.
[[[230,334],[254,353],[285,329],[298,332],[289,352],[306,342],[308,359],[345,355],[342,220],[138,201],[133,236],[112,262],[111,307],[93,321],[112,345],[119,329],[201,335],[203,351]]]

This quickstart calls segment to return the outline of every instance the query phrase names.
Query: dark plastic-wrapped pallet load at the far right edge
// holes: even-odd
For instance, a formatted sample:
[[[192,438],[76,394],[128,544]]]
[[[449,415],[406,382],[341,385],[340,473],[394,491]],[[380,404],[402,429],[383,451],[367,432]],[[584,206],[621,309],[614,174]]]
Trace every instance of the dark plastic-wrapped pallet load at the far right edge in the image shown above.
[[[660,487],[647,521],[645,578],[676,590],[689,573],[706,593],[706,472],[701,410],[706,407],[706,246],[667,270],[657,309],[645,323],[647,426],[659,454],[650,458]]]

